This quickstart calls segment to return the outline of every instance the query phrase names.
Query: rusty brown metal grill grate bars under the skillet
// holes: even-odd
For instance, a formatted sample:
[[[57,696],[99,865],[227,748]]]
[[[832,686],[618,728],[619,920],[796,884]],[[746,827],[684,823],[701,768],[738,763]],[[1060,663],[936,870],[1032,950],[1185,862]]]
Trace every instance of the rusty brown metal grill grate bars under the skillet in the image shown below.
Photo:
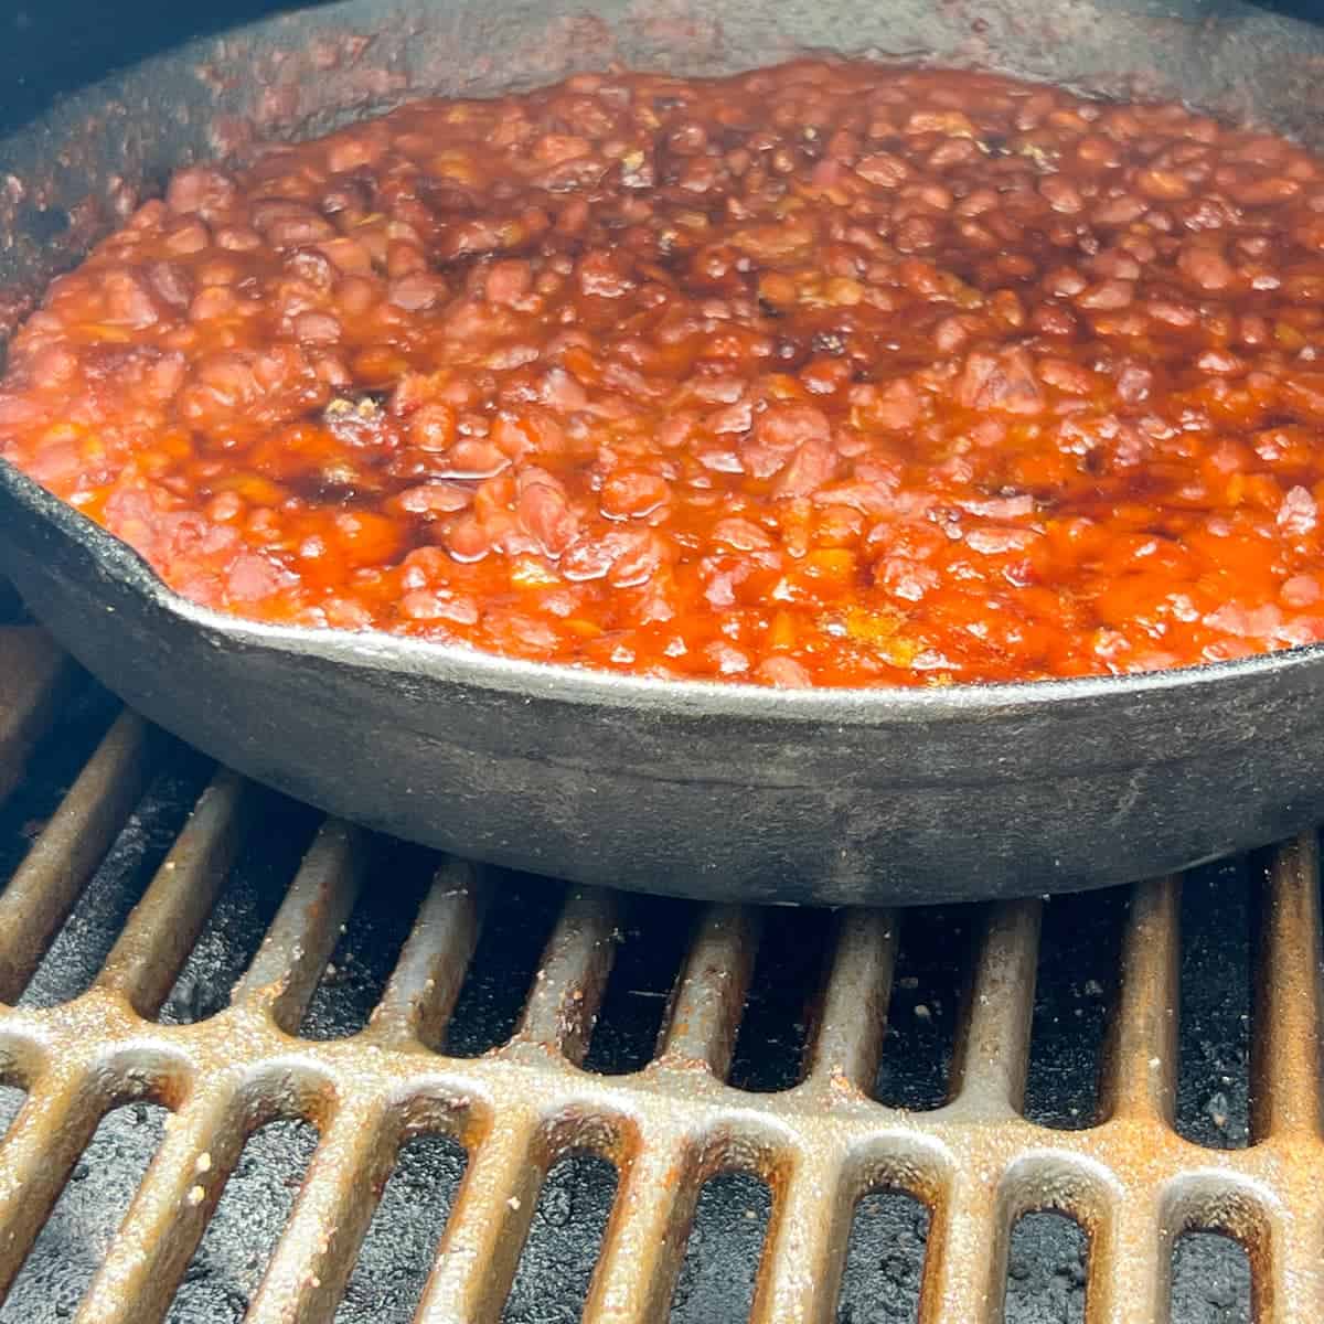
[[[0,790],[19,785],[58,711],[68,670],[40,632],[0,629]],[[736,1202],[728,1222],[751,1218],[753,1239],[763,1239],[752,1287],[736,1284],[737,1295],[752,1292],[760,1321],[863,1317],[850,1315],[841,1291],[845,1278],[858,1295],[855,1260],[847,1263],[858,1259],[853,1221],[857,1207],[867,1223],[898,1200],[923,1255],[918,1280],[898,1268],[898,1301],[918,1301],[928,1324],[1000,1319],[1010,1300],[1013,1227],[1046,1210],[1068,1214],[1087,1237],[1087,1254],[1072,1263],[1088,1324],[1164,1319],[1173,1247],[1197,1229],[1246,1247],[1258,1319],[1321,1317],[1313,838],[1282,846],[1266,869],[1253,963],[1250,1143],[1211,1149],[1174,1125],[1177,879],[1131,891],[1098,1108],[1070,1129],[1025,1116],[1042,915],[1033,900],[967,916],[981,919],[955,1016],[948,1099],[931,1111],[874,1096],[902,932],[883,912],[816,920],[822,957],[805,963],[802,1006],[755,989],[790,1009],[794,1025],[781,1042],[800,1063],[784,1080],[760,1082],[760,1091],[737,1090],[728,1076],[760,941],[780,922],[739,907],[663,906],[659,914],[692,919],[692,931],[677,945],[670,994],[646,961],[634,961],[638,994],[662,1001],[661,1014],[634,1017],[649,1035],[659,1026],[655,1051],[621,1050],[632,1062],[647,1059],[626,1074],[587,1071],[630,908],[624,898],[579,888],[545,908],[549,933],[514,1034],[479,1057],[446,1055],[437,1046],[448,1043],[451,1018],[467,1016],[479,997],[461,992],[496,883],[463,862],[430,861],[412,925],[389,937],[393,964],[375,947],[363,969],[342,969],[338,963],[356,960],[346,927],[360,894],[367,903],[396,879],[380,875],[377,843],[339,822],[303,825],[315,831],[277,908],[263,911],[261,898],[242,903],[266,932],[230,996],[204,988],[185,997],[184,985],[205,980],[191,953],[214,932],[213,910],[240,904],[222,891],[245,842],[273,824],[295,830],[267,793],[224,769],[131,914],[117,918],[90,986],[49,1006],[16,1005],[152,784],[162,748],[138,718],[115,716],[52,817],[32,825],[30,849],[0,892],[0,1084],[9,1099],[26,1091],[0,1144],[0,1295],[102,1119],[150,1102],[168,1110],[160,1143],[78,1320],[189,1317],[180,1284],[205,1258],[208,1225],[224,1217],[217,1207],[226,1189],[248,1170],[250,1140],[281,1119],[311,1128],[315,1149],[287,1182],[297,1194],[274,1245],[246,1264],[253,1282],[236,1309],[258,1324],[354,1319],[363,1300],[381,1319],[500,1319],[511,1286],[523,1282],[516,1275],[528,1270],[522,1255],[534,1219],[555,1221],[575,1200],[579,1178],[565,1165],[576,1156],[597,1162],[580,1168],[597,1170],[589,1185],[605,1192],[594,1197],[602,1201],[600,1250],[587,1280],[587,1264],[571,1266],[575,1291],[587,1294],[583,1317],[596,1324],[694,1311],[686,1303],[702,1274],[687,1267],[691,1223],[703,1193],[718,1188],[712,1180],[732,1172],[749,1190],[736,1182],[737,1194],[726,1197]],[[191,960],[192,984],[180,981]],[[367,1023],[347,1037],[306,1037],[310,1004],[338,978],[371,1005]],[[898,1001],[910,998],[908,1014],[923,1009],[931,1022],[922,980],[922,970],[904,974]],[[459,1041],[471,1045],[473,1035]],[[421,1137],[450,1147],[433,1168],[409,1157]],[[604,1161],[614,1182],[601,1178]],[[906,1211],[907,1196],[919,1214]],[[428,1266],[417,1300],[351,1278],[364,1239],[383,1237],[380,1222],[373,1226],[379,1200],[385,1217],[392,1202],[410,1198],[449,1206],[417,1246],[400,1247]],[[547,1235],[536,1254],[555,1256]]]

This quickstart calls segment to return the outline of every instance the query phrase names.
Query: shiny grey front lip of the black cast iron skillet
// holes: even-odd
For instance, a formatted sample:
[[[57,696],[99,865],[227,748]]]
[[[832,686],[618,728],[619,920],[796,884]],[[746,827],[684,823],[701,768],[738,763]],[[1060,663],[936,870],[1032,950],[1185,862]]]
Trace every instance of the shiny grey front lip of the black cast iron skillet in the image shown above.
[[[503,691],[583,707],[629,708],[643,715],[737,718],[751,722],[837,723],[873,727],[884,723],[960,722],[1005,716],[1009,710],[1121,703],[1174,690],[1237,682],[1254,683],[1324,662],[1324,642],[1295,645],[1226,662],[1039,681],[965,682],[932,687],[822,686],[775,688],[748,682],[634,677],[563,662],[502,657],[457,643],[413,639],[384,630],[278,625],[201,606],[169,588],[128,543],[0,457],[0,489],[34,520],[77,544],[101,573],[213,646],[312,657],[421,681]],[[5,534],[0,532],[0,542]],[[114,608],[107,608],[114,610]]]

